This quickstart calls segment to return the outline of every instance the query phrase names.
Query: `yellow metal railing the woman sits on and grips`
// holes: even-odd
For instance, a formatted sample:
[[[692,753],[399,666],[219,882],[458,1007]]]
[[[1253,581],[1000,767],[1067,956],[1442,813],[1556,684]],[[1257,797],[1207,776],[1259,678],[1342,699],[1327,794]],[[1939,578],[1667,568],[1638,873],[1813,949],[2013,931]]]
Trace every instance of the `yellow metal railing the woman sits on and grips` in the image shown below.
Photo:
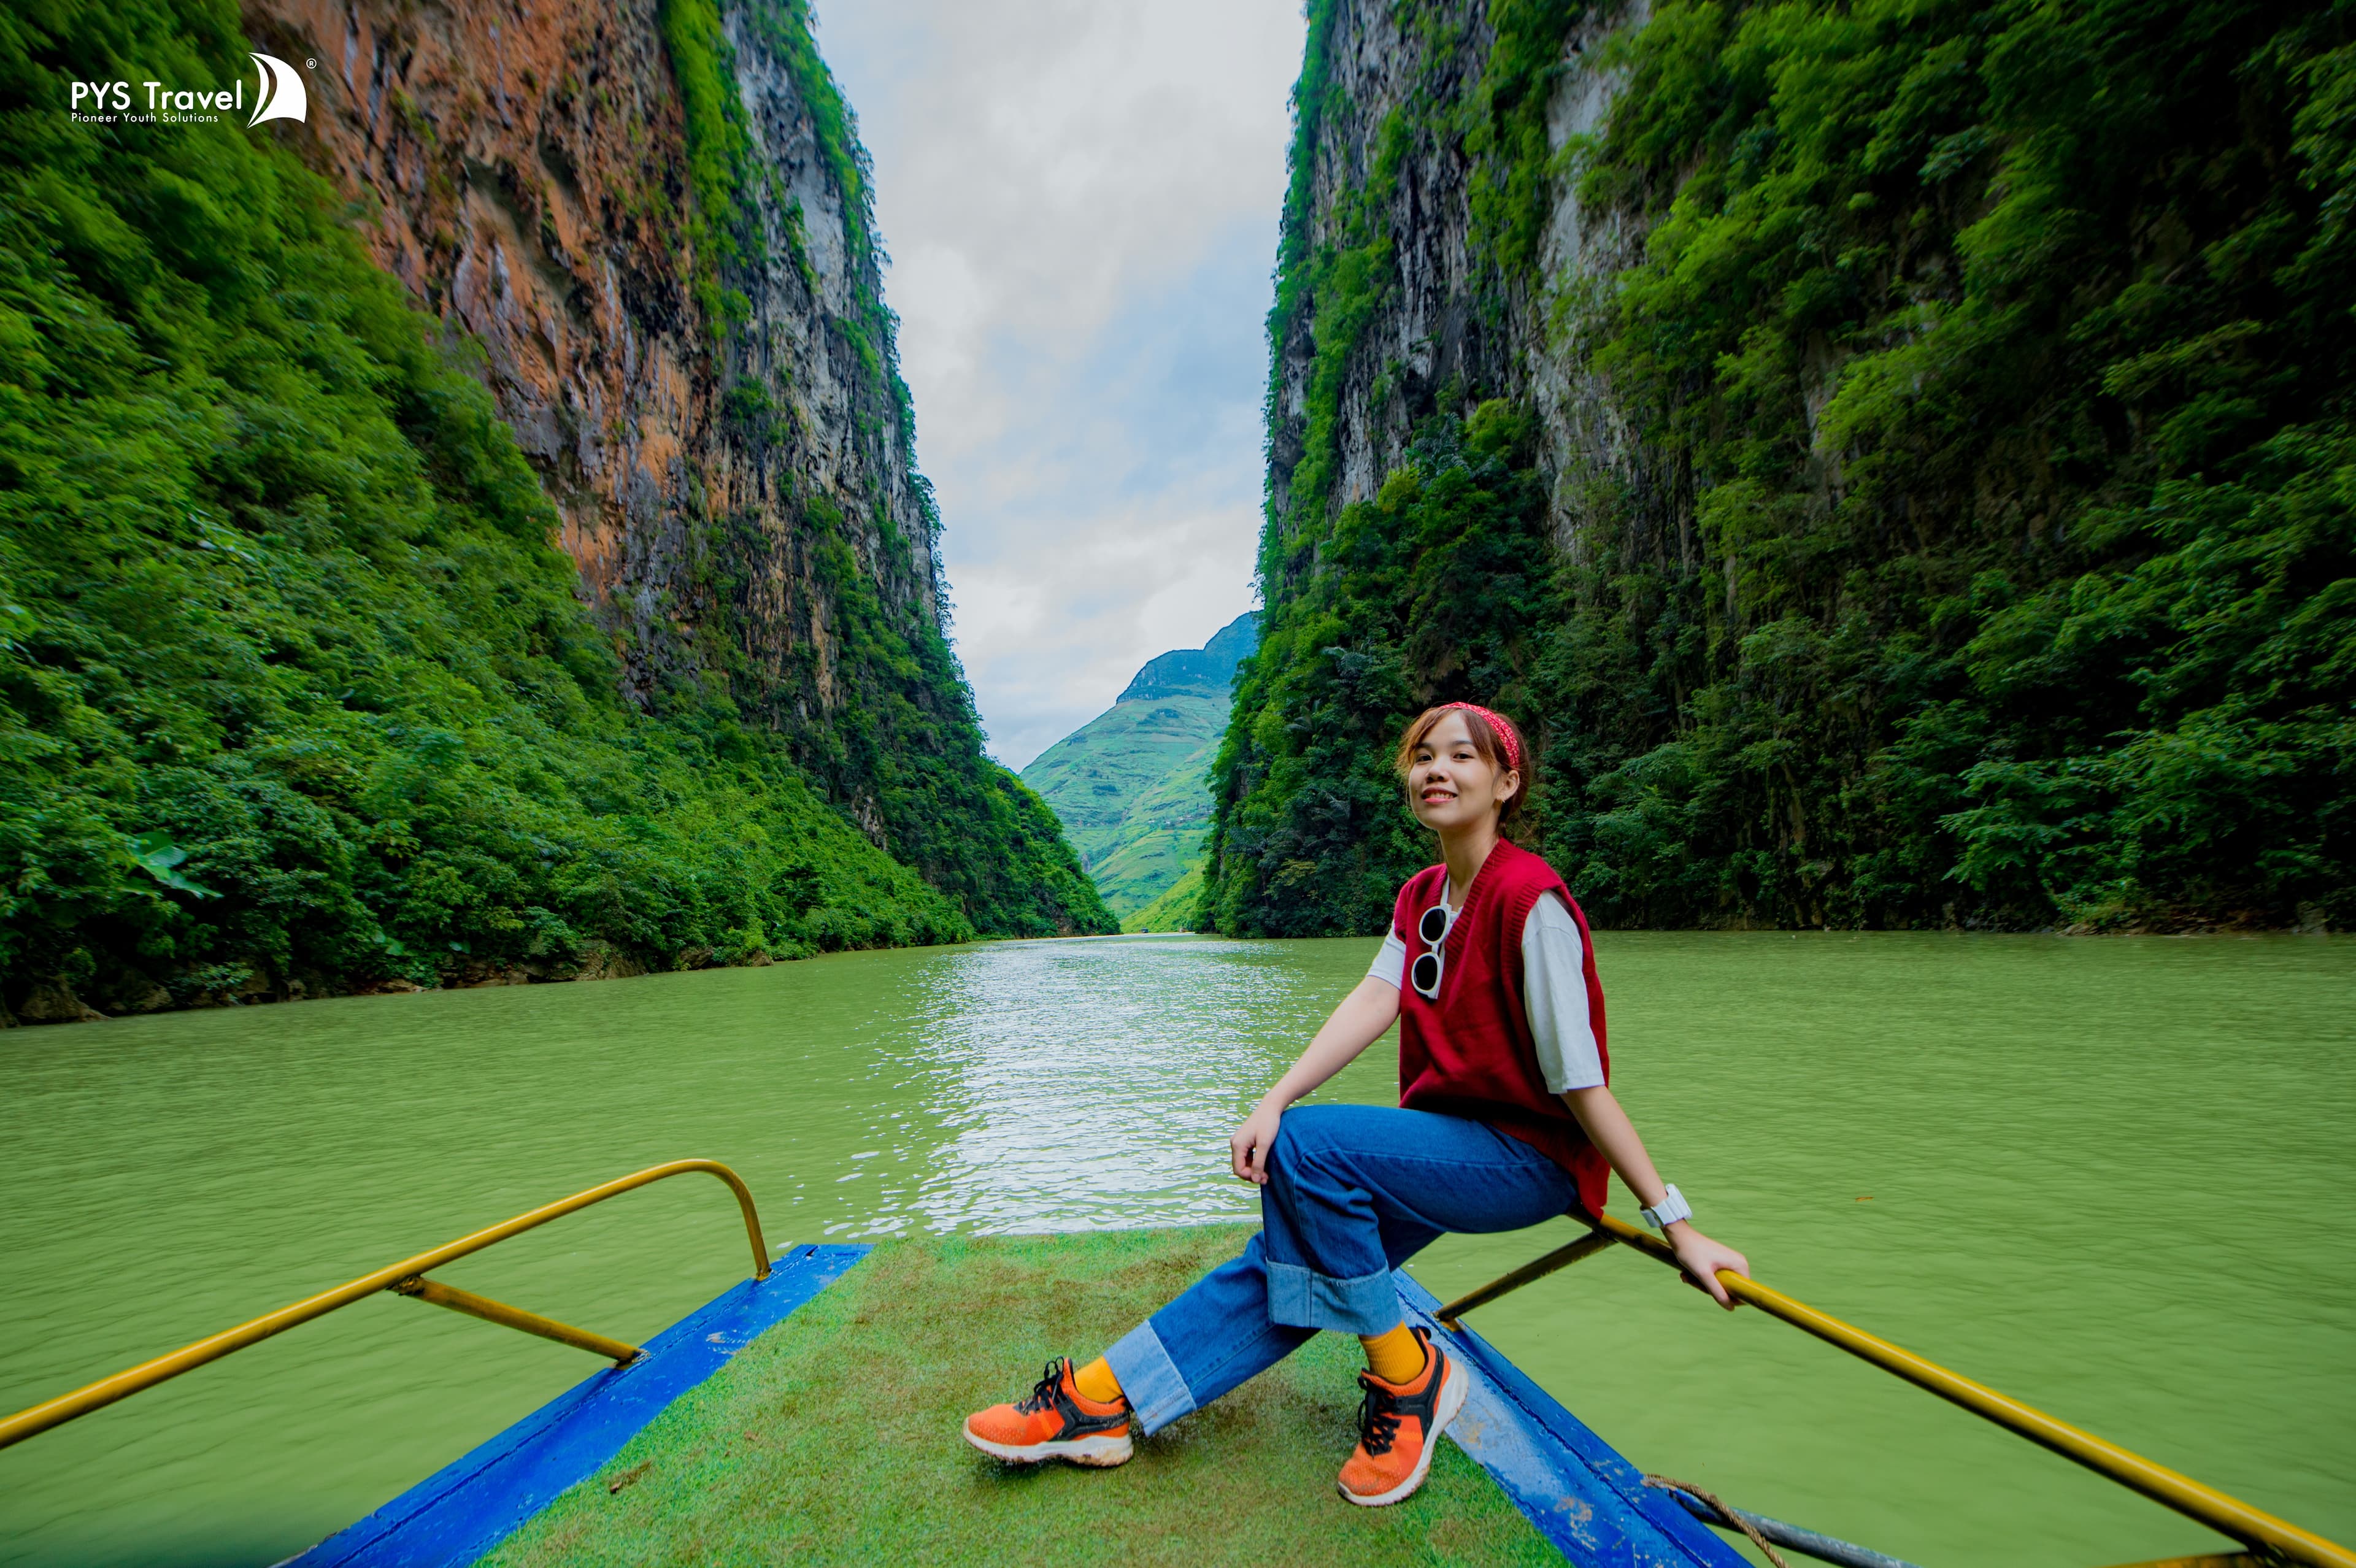
[[[1482,1285],[1480,1290],[1472,1290],[1470,1295],[1456,1297],[1432,1316],[1437,1316],[1447,1328],[1454,1330],[1456,1318],[1472,1311],[1475,1307],[1494,1302],[1508,1290],[1520,1290],[1534,1278],[1546,1278],[1555,1269],[1564,1269],[1579,1262],[1581,1257],[1593,1257],[1614,1241],[1630,1245],[1637,1253],[1644,1253],[1647,1257],[1666,1262],[1673,1269],[1682,1271],[1685,1267],[1677,1262],[1675,1248],[1670,1248],[1659,1236],[1652,1236],[1628,1224],[1626,1220],[1619,1220],[1614,1215],[1602,1215],[1593,1224],[1595,1229],[1581,1236],[1579,1241],[1564,1248],[1555,1248],[1546,1257],[1527,1262],[1513,1274],[1498,1276],[1487,1285]],[[2356,1568],[2356,1552],[2349,1552],[2347,1547],[2328,1542],[2321,1535],[2309,1535],[2295,1523],[2288,1523],[2283,1519],[2276,1519],[2274,1514],[2255,1509],[2241,1497],[2229,1497],[2217,1488],[2201,1486],[2191,1476],[2179,1476],[2165,1464],[2153,1464],[2151,1460],[2137,1453],[2127,1453],[2118,1443],[2106,1443],[2092,1431],[2080,1431],[2078,1427],[2054,1420],[2052,1415],[2045,1415],[2033,1406],[2024,1406],[2021,1401],[1998,1394],[1996,1389],[1981,1382],[1972,1382],[1960,1373],[1951,1373],[1937,1361],[1925,1361],[1922,1356],[1915,1356],[1913,1351],[1901,1349],[1890,1340],[1880,1340],[1852,1323],[1842,1323],[1828,1311],[1816,1311],[1807,1302],[1798,1302],[1783,1295],[1781,1290],[1760,1285],[1758,1281],[1743,1278],[1741,1274],[1727,1269],[1718,1271],[1718,1283],[1725,1285],[1727,1295],[1732,1295],[1736,1302],[1748,1302],[1751,1307],[1758,1307],[1769,1316],[1783,1318],[1795,1328],[1805,1328],[1819,1340],[1838,1344],[1840,1349],[1864,1361],[1871,1361],[1885,1373],[1897,1373],[1918,1389],[1930,1389],[1939,1398],[1953,1401],[1965,1410],[1970,1410],[1972,1415],[1991,1420],[1998,1427],[2007,1427],[2029,1439],[2031,1443],[2052,1448],[2064,1460],[2076,1460],[2078,1464],[2085,1464],[2099,1476],[2109,1476],[2111,1481],[2118,1481],[2120,1486],[2132,1488],[2144,1497],[2151,1497],[2153,1502],[2168,1504],[2189,1519],[2198,1519],[2219,1535],[2231,1535],[2241,1544],[2255,1547],[2262,1556],[2290,1563],[2311,1563],[2314,1568]],[[2196,1559],[2172,1559],[2172,1561],[2222,1566],[2231,1563],[2233,1559],[2196,1556]],[[2168,1566],[2153,1563],[2149,1568],[2168,1568]]]

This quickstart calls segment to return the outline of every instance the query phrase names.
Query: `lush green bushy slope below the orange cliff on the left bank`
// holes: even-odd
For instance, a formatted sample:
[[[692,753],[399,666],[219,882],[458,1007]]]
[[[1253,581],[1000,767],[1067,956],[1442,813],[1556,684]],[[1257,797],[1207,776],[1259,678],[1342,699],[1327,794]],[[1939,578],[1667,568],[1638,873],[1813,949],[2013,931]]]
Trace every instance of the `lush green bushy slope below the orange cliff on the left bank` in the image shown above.
[[[1053,930],[876,850],[723,687],[615,697],[490,396],[269,134],[64,108],[243,66],[229,5],[0,16],[7,1003]],[[942,791],[1001,878],[1079,881],[1004,770]]]

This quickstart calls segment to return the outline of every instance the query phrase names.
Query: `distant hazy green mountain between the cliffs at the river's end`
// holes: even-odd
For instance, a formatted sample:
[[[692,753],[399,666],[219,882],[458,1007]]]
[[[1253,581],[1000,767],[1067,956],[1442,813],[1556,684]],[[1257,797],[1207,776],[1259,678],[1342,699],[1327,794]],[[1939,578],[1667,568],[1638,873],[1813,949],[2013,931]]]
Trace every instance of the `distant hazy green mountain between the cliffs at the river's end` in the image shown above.
[[[1023,770],[1124,921],[1162,899],[1202,855],[1227,683],[1256,643],[1258,617],[1239,614],[1202,647],[1152,659],[1107,711]]]

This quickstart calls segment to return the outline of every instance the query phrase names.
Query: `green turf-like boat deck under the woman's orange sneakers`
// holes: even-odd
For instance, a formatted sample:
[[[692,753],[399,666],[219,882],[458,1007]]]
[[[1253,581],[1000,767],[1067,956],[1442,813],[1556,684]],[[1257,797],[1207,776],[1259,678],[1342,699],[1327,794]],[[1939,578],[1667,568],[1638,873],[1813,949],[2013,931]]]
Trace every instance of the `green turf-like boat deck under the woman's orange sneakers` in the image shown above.
[[[1251,1227],[886,1241],[683,1394],[485,1563],[1560,1563],[1442,1443],[1388,1509],[1333,1490],[1357,1344],[1319,1335],[1121,1469],[959,1439],[1051,1356],[1093,1356]]]

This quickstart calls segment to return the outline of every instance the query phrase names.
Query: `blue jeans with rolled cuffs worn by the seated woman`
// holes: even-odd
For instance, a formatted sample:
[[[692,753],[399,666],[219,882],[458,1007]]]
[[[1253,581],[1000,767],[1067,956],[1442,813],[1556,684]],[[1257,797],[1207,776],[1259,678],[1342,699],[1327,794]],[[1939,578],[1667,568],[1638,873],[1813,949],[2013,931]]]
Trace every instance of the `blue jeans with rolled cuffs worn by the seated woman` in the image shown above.
[[[1449,1231],[1520,1231],[1579,1187],[1517,1137],[1461,1116],[1296,1107],[1268,1151],[1260,1234],[1105,1351],[1145,1431],[1258,1377],[1319,1328],[1399,1326],[1390,1271]]]

